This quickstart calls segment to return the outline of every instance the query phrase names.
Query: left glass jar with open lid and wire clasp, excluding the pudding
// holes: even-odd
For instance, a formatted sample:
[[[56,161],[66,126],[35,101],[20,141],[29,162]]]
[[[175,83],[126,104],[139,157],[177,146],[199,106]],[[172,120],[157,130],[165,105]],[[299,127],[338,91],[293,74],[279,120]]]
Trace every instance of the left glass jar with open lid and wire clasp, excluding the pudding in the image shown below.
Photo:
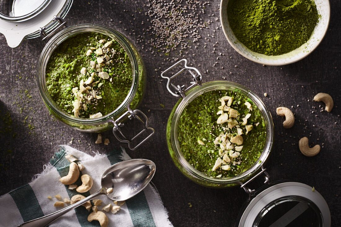
[[[28,38],[39,36],[43,40],[51,38],[41,53],[37,69],[39,91],[49,112],[79,131],[101,132],[113,128],[115,137],[134,150],[154,134],[154,129],[148,126],[147,116],[136,109],[142,101],[146,84],[143,60],[130,40],[118,31],[95,24],[69,27],[64,17],[69,12],[72,2],[73,0],[1,1],[0,33],[5,36],[10,47],[17,47]],[[64,27],[66,28],[61,30]],[[95,119],[76,118],[64,112],[56,105],[46,88],[45,72],[51,54],[66,39],[83,32],[102,33],[116,40],[128,54],[133,72],[132,85],[122,103],[111,113]],[[127,119],[135,119],[143,125],[142,131],[131,139],[121,131],[123,121]]]

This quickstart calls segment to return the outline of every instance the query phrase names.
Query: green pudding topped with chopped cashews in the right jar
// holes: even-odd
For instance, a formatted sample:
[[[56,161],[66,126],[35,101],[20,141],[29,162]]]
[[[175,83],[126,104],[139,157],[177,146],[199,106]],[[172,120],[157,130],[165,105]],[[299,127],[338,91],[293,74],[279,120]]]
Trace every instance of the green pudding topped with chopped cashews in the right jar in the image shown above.
[[[178,125],[184,158],[209,177],[234,177],[257,162],[266,141],[261,111],[238,91],[206,92],[184,109]]]

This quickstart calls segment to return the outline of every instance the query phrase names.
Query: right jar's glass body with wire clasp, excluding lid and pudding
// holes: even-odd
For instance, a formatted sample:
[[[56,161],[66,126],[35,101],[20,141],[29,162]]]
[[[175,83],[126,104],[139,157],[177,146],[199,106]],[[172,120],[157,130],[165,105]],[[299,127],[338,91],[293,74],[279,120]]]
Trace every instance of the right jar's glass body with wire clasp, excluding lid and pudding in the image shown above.
[[[185,69],[187,66],[186,60],[185,61]],[[181,62],[180,61],[180,62]],[[175,65],[179,64],[176,63]],[[172,67],[174,67],[173,65]],[[168,150],[170,153],[170,156],[172,157],[172,160],[174,164],[178,167],[180,172],[184,174],[186,177],[191,179],[192,181],[203,185],[207,187],[214,187],[214,188],[226,188],[231,187],[237,184],[242,184],[242,182],[249,179],[250,176],[255,175],[257,172],[265,172],[265,169],[262,168],[264,163],[266,162],[273,145],[273,122],[271,113],[263,103],[260,97],[258,97],[254,92],[250,91],[248,88],[233,83],[233,82],[227,82],[227,81],[212,81],[207,82],[204,84],[200,84],[201,75],[194,76],[192,70],[192,67],[188,67],[187,70],[189,70],[193,76],[194,82],[192,82],[192,85],[190,86],[190,89],[184,89],[184,86],[175,86],[170,82],[170,80],[174,79],[174,76],[172,77],[165,77],[164,74],[168,72],[172,67],[168,68],[163,72],[161,75],[163,78],[168,79],[167,88],[170,91],[172,87],[176,88],[176,92],[172,92],[173,95],[176,96],[183,96],[175,105],[172,112],[170,113],[170,116],[168,118],[167,123],[167,145]],[[181,71],[181,70],[180,70]],[[198,72],[198,71],[197,71]],[[181,72],[180,72],[181,73]],[[176,73],[175,76],[178,76],[180,73]],[[196,79],[195,79],[196,78]],[[198,84],[199,86],[195,86]],[[180,89],[182,88],[182,89]],[[250,98],[254,104],[258,107],[258,109],[261,111],[261,114],[263,116],[265,127],[266,127],[266,143],[264,146],[264,149],[258,158],[257,162],[254,163],[252,167],[250,167],[247,171],[243,172],[240,175],[231,177],[231,178],[215,178],[215,177],[209,177],[201,172],[199,172],[197,169],[195,169],[192,165],[190,165],[187,160],[184,158],[179,141],[178,141],[178,124],[180,120],[180,116],[184,109],[188,106],[188,104],[193,101],[196,97],[210,91],[214,90],[238,90],[239,93],[246,95],[248,98]]]

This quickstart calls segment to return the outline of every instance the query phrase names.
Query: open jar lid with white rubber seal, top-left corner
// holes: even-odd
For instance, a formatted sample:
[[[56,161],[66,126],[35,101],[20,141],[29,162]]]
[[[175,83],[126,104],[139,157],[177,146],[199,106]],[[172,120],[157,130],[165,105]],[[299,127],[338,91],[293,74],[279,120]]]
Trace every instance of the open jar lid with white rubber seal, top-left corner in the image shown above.
[[[24,38],[35,38],[40,28],[48,32],[55,29],[64,18],[73,0],[1,0],[0,33],[10,47],[17,47]]]

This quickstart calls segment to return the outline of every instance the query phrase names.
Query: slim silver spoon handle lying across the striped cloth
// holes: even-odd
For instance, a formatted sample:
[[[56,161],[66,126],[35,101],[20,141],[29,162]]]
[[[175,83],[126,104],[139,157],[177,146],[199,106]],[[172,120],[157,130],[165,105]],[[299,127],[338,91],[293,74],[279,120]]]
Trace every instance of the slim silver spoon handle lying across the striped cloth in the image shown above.
[[[72,204],[68,207],[65,207],[64,209],[61,209],[61,210],[56,211],[54,213],[45,215],[43,217],[36,218],[32,221],[25,222],[25,223],[19,225],[18,227],[45,227],[48,224],[50,224],[51,222],[55,221],[61,215],[65,214],[66,212],[69,212],[70,210],[75,209],[76,207],[78,207],[78,206],[84,204],[85,202],[99,196],[100,194],[102,194],[101,190],[99,190],[98,192],[86,197],[85,199],[82,199],[82,200],[76,202],[75,204]]]

